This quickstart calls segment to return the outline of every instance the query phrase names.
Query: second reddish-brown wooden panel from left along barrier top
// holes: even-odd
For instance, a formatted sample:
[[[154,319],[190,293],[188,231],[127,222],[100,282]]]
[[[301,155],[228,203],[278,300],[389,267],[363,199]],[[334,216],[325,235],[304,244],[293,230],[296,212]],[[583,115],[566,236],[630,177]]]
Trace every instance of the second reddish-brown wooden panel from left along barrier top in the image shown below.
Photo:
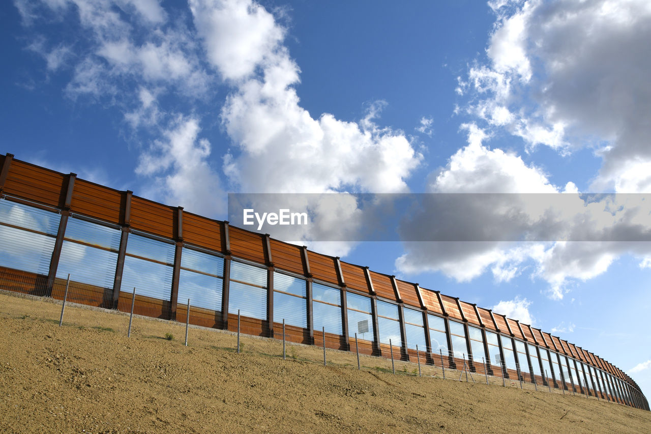
[[[121,210],[122,195],[124,193],[118,190],[77,178],[72,189],[70,210],[105,222],[121,224],[124,216]]]

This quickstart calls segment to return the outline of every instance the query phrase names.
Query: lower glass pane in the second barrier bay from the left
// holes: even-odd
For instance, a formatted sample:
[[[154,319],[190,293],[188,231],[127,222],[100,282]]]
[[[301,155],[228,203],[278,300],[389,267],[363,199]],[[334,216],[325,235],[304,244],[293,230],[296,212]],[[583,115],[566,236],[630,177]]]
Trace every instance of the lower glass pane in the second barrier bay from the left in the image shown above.
[[[115,252],[64,241],[57,278],[65,279],[70,273],[73,282],[113,288],[117,262],[118,254]]]

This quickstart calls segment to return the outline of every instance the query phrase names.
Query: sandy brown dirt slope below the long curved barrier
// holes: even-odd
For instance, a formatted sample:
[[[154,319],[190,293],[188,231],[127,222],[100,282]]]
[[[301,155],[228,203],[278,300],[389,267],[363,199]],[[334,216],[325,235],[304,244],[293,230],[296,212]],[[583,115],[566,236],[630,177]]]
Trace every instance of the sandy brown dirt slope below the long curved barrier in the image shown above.
[[[649,433],[651,412],[0,292],[7,433]],[[172,340],[165,338],[173,336]],[[482,383],[483,382],[483,383]]]

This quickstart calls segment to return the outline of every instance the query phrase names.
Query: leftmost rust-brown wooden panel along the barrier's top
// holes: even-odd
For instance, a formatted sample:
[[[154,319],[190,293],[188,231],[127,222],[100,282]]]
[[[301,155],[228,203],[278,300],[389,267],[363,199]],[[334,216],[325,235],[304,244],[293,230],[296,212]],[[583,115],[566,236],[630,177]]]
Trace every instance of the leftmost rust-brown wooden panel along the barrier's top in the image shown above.
[[[62,208],[68,177],[62,173],[12,160],[3,190],[6,194]]]

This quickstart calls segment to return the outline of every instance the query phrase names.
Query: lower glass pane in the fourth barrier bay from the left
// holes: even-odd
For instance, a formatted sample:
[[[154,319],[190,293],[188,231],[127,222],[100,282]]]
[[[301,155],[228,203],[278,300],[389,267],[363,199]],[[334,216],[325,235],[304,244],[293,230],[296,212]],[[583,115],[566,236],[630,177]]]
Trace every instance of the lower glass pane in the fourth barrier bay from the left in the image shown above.
[[[189,298],[190,306],[221,311],[223,286],[224,281],[221,278],[181,269],[178,278],[178,302],[186,304]]]

